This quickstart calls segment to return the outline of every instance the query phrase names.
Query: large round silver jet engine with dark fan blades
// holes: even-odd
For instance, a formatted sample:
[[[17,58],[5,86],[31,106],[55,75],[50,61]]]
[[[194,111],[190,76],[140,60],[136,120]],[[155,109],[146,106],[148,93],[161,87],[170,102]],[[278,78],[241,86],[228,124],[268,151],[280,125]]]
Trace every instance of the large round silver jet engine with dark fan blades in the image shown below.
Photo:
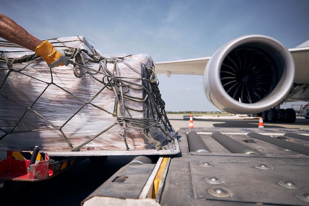
[[[248,35],[224,44],[211,57],[204,71],[204,92],[221,110],[256,114],[278,105],[294,76],[292,54],[282,43]]]

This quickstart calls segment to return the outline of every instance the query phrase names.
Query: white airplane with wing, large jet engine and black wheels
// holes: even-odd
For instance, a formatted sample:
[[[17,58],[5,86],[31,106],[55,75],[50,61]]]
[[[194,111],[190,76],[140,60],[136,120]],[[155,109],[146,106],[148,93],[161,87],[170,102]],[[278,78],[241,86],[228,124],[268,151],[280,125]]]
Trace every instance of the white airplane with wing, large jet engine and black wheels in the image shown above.
[[[295,111],[285,113],[274,107],[288,101],[309,101],[307,42],[287,49],[273,38],[247,35],[227,42],[212,57],[157,62],[155,71],[167,77],[204,75],[205,95],[223,111],[264,115],[269,122],[282,122],[280,118],[294,122]]]

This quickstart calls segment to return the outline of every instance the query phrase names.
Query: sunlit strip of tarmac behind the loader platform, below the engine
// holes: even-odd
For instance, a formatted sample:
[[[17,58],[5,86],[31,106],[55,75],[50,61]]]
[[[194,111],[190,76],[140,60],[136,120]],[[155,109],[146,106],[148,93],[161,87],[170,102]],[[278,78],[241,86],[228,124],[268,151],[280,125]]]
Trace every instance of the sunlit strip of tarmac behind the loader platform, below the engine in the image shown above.
[[[180,127],[189,127],[190,120],[184,120],[183,115],[167,114],[167,118],[174,129]],[[257,128],[259,126],[259,119],[243,120],[243,119],[193,119],[194,127],[242,127],[242,128]],[[295,123],[265,123],[264,128],[299,128],[309,130],[309,119],[304,117],[297,117]]]

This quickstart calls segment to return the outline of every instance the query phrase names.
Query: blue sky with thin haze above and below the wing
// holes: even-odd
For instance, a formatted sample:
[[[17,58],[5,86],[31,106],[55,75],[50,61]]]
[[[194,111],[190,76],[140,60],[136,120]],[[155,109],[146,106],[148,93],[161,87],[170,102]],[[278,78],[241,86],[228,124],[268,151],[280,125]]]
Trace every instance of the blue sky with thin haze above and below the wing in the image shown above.
[[[84,36],[102,54],[155,62],[211,56],[262,34],[293,48],[309,40],[309,0],[1,0],[0,13],[41,40]],[[166,111],[216,111],[202,76],[158,75]]]

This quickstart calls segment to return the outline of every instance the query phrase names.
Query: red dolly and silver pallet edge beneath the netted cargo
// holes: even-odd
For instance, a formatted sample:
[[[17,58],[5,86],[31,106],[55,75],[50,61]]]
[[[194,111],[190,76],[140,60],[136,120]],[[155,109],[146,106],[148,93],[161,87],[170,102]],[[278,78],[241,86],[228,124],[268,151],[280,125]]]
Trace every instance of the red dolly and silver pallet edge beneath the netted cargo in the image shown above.
[[[180,148],[177,139],[169,142],[164,149],[155,150],[107,150],[83,152],[42,152],[7,151],[0,152],[0,180],[40,181],[49,179],[65,171],[86,158],[104,158],[108,156],[163,156],[177,155]]]

